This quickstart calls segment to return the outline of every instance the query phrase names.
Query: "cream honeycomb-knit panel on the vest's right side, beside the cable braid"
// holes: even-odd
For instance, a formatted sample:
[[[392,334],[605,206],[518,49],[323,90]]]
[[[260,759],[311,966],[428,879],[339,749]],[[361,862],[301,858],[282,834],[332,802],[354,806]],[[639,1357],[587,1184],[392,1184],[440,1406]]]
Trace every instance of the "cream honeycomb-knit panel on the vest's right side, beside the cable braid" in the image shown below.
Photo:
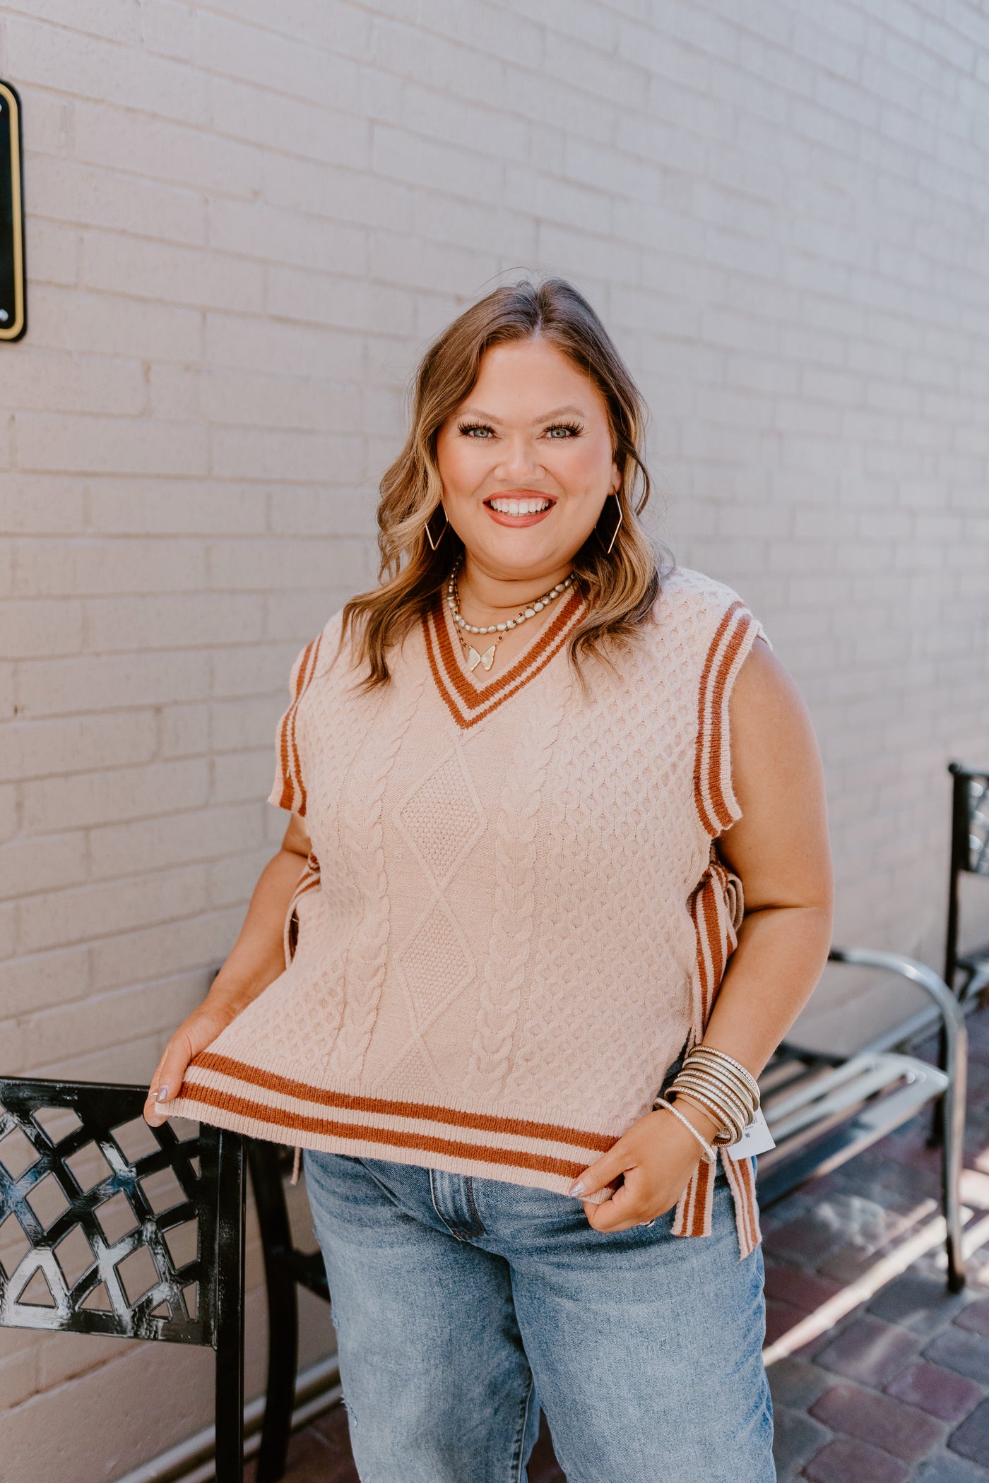
[[[618,673],[598,666],[547,779],[546,908],[510,1089],[556,1087],[571,1117],[590,1096],[618,1118],[636,1084],[636,1112],[645,1111],[655,1068],[673,1060],[687,1032],[694,939],[661,882],[698,876],[707,856],[687,785],[695,736],[688,647],[689,632],[676,647],[623,655]],[[560,839],[566,848],[555,847]]]

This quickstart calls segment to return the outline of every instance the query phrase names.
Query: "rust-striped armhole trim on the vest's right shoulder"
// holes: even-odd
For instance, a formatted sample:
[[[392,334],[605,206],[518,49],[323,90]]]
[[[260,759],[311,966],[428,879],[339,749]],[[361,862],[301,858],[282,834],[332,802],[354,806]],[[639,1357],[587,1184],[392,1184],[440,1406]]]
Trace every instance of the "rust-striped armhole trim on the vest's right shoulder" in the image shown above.
[[[697,697],[694,802],[701,828],[712,839],[741,819],[731,783],[728,701],[758,638],[770,642],[758,618],[735,598],[722,614],[704,657]]]

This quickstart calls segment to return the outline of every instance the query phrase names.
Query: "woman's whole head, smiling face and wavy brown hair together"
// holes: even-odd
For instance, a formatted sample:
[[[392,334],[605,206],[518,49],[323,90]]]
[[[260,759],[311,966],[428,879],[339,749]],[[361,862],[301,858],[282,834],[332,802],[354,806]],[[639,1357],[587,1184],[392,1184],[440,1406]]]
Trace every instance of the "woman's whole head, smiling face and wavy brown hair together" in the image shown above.
[[[569,283],[497,289],[454,320],[423,359],[409,436],[381,480],[388,580],[344,608],[371,684],[387,682],[388,648],[429,612],[458,558],[476,626],[507,626],[572,572],[587,604],[571,657],[629,639],[661,571],[638,519],[649,498],[644,429],[635,381]],[[498,666],[520,638],[498,645]]]

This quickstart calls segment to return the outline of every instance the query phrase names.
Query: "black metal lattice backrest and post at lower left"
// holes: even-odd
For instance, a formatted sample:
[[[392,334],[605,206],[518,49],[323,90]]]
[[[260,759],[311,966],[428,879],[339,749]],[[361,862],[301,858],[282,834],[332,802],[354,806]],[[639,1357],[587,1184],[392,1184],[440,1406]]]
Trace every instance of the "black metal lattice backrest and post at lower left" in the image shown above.
[[[28,1243],[12,1271],[0,1264],[0,1326],[212,1348],[216,1355],[216,1483],[242,1483],[243,1139],[205,1124],[196,1136],[181,1139],[168,1123],[156,1129],[144,1124],[157,1148],[129,1157],[122,1146],[122,1130],[141,1118],[145,1097],[147,1087],[0,1078],[0,1232],[13,1219],[19,1238]],[[74,1114],[77,1126],[65,1136],[52,1136],[39,1121],[46,1109]],[[13,1173],[7,1163],[15,1163],[16,1134],[28,1140],[36,1157]],[[10,1139],[7,1163],[6,1139]],[[110,1172],[85,1188],[79,1164],[74,1170],[71,1161],[74,1155],[86,1157],[89,1145],[99,1149]],[[24,1145],[19,1146],[24,1152]],[[144,1182],[166,1170],[178,1180],[182,1198],[156,1210],[154,1195],[150,1197]],[[47,1222],[36,1210],[39,1186],[46,1179],[53,1180],[47,1186],[49,1200],[61,1194],[65,1201],[65,1209]],[[99,1212],[120,1195],[129,1206],[133,1226],[111,1238]],[[191,1221],[197,1225],[196,1255],[178,1261],[169,1235]],[[59,1246],[77,1231],[89,1244],[92,1262],[70,1278]],[[132,1301],[120,1266],[141,1249],[150,1255],[157,1280]],[[39,1272],[52,1304],[25,1301],[25,1290]],[[101,1293],[105,1304],[98,1307],[95,1301]]]

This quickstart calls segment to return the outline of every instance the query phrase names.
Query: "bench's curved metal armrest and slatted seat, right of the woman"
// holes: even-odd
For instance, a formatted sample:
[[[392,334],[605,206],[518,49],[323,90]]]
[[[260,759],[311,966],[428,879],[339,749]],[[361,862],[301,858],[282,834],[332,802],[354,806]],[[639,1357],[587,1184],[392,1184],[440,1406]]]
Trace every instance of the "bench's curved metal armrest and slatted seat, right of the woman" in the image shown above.
[[[764,1072],[764,1112],[777,1146],[762,1154],[756,1176],[764,1207],[893,1133],[937,1099],[947,1287],[965,1286],[959,1182],[965,1142],[968,1031],[964,1011],[933,968],[897,952],[832,948],[832,962],[882,968],[922,988],[942,1017],[943,1068],[897,1051],[861,1051],[848,1059],[784,1043]]]

